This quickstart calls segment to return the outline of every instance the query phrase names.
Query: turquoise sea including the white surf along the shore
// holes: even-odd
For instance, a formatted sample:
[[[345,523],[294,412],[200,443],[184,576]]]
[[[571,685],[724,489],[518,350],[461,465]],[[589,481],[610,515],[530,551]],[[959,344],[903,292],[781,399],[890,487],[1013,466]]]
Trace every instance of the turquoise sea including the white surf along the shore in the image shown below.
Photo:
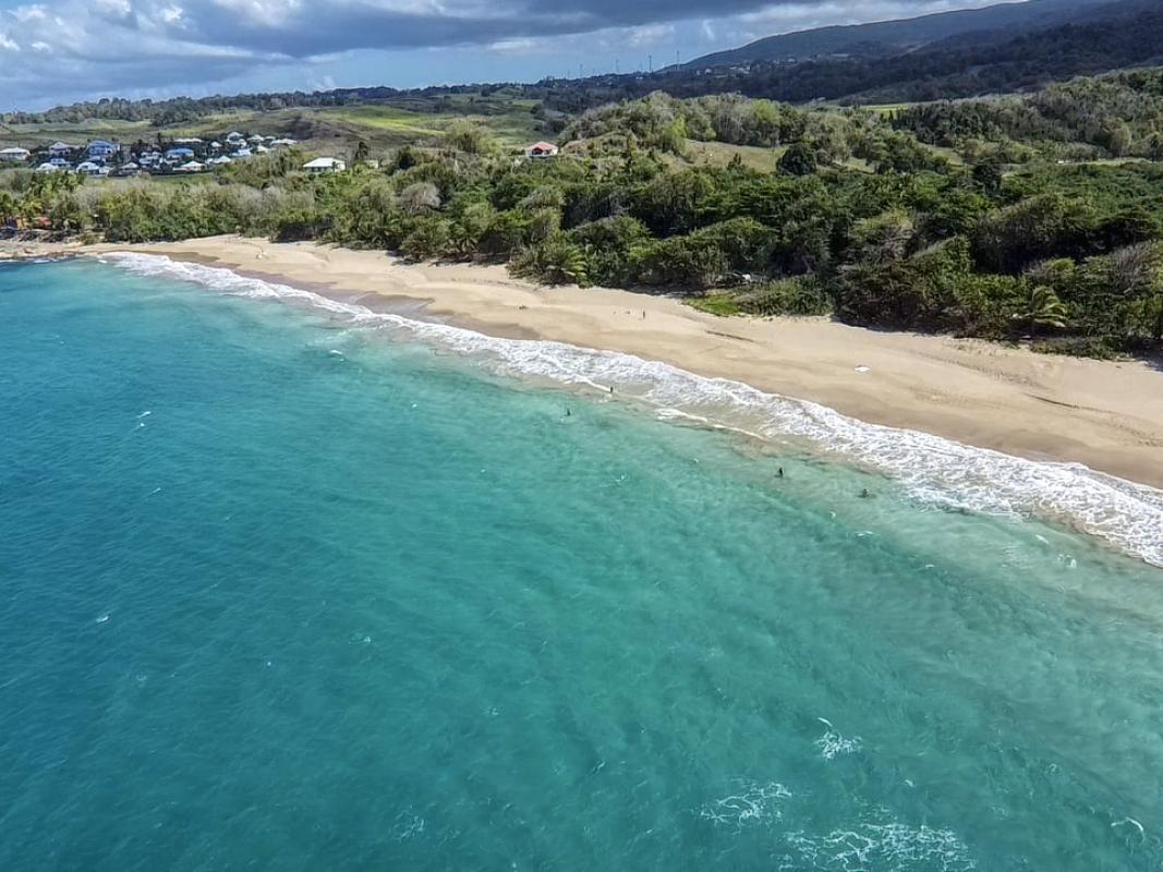
[[[1155,492],[166,264],[0,267],[0,870],[1163,864]]]

